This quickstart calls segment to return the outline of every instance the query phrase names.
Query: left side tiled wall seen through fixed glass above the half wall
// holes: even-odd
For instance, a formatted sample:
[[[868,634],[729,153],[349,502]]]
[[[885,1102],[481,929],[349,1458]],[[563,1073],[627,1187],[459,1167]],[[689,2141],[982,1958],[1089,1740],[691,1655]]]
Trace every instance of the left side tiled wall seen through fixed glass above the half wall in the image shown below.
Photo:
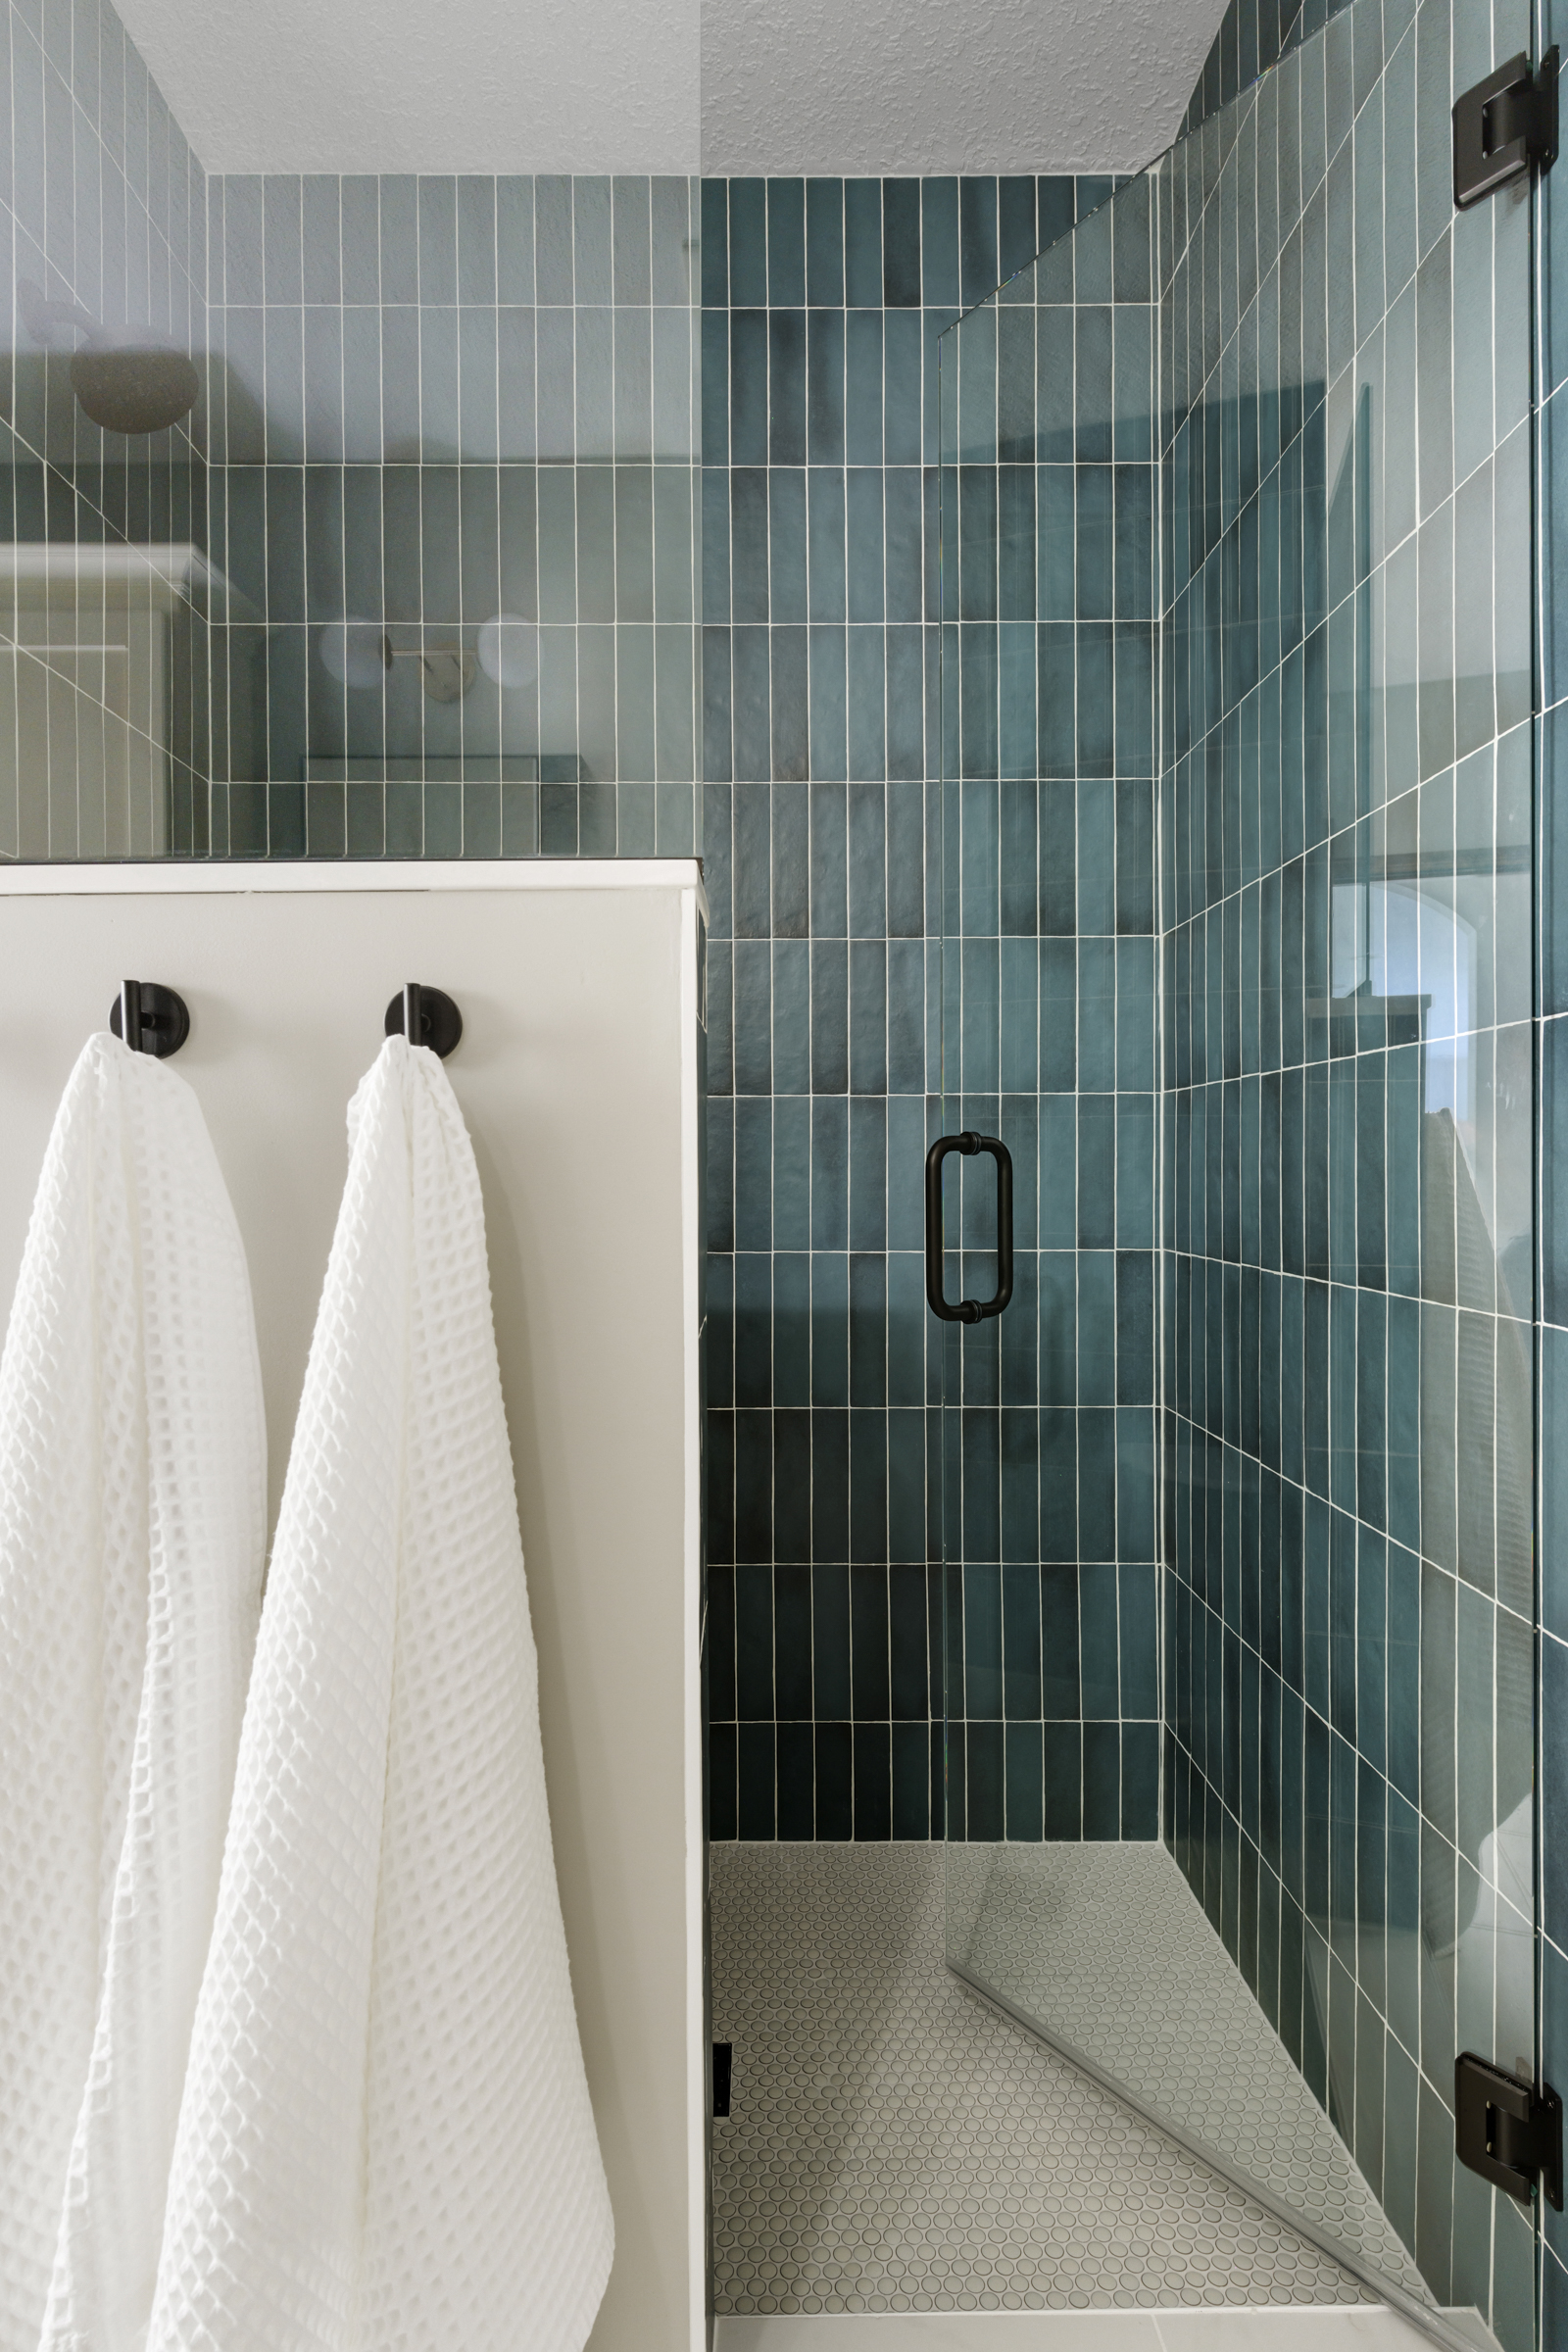
[[[99,0],[7,7],[0,80],[0,856],[162,856],[207,774],[202,407],[127,440],[71,367],[205,348],[202,169]]]

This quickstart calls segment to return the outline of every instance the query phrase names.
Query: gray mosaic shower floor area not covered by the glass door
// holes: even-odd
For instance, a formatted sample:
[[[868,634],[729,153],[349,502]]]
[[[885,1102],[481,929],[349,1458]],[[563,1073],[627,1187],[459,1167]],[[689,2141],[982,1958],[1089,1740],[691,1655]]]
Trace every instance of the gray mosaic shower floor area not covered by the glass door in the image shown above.
[[[1371,2300],[947,1971],[940,1846],[710,1858],[719,2312]]]

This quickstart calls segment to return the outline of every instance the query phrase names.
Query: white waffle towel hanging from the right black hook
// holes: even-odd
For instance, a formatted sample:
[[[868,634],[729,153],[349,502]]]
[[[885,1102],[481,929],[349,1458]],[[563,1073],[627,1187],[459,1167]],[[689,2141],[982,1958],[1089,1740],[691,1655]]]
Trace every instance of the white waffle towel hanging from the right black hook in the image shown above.
[[[150,2352],[578,2352],[611,2213],[555,1889],[473,1145],[348,1115]]]

